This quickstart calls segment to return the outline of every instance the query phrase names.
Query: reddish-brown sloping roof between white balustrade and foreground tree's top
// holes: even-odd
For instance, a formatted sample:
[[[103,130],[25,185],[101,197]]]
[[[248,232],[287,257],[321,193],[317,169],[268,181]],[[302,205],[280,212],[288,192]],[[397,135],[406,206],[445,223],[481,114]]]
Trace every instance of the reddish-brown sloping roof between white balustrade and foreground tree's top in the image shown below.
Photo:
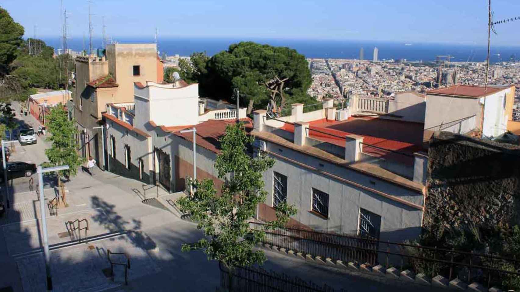
[[[240,119],[244,122],[246,132],[253,130],[251,119]],[[194,126],[197,129],[196,143],[198,146],[213,151],[216,154],[220,152],[220,142],[218,139],[224,135],[226,126],[235,123],[235,120],[207,120]],[[190,128],[190,127],[185,127]],[[193,142],[193,133],[180,133],[182,129],[174,132],[175,135]]]

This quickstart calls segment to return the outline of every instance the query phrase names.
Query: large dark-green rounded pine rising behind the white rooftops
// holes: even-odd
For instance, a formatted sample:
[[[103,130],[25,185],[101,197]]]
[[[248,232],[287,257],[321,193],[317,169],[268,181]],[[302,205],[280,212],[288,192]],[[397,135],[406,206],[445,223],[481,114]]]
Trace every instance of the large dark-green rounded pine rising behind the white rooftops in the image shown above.
[[[233,88],[244,94],[248,113],[254,104],[264,105],[269,100],[285,106],[295,92],[306,92],[312,83],[304,55],[287,47],[251,41],[232,44],[215,54],[208,67],[209,72],[224,80],[227,94],[231,95]]]

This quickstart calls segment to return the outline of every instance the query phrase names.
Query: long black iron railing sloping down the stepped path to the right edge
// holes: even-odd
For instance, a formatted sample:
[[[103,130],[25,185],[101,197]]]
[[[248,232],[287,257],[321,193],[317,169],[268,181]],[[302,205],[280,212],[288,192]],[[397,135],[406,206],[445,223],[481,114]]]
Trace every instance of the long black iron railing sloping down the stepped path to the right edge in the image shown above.
[[[263,243],[294,253],[301,252],[303,256],[310,254],[332,261],[354,262],[356,265],[369,263],[370,266],[381,265],[384,269],[395,267],[400,271],[408,269],[432,278],[441,275],[448,281],[459,279],[468,284],[482,283],[488,288],[497,285],[514,288],[511,286],[520,285],[520,260],[515,256],[385,242],[296,228],[270,229],[266,224],[254,222],[250,223],[250,227],[265,231]],[[515,284],[515,281],[518,282]]]

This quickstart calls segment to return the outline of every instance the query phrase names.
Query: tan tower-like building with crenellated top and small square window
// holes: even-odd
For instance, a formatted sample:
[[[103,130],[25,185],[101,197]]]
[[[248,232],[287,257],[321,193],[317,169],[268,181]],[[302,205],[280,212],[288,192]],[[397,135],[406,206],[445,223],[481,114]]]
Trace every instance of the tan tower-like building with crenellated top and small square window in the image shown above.
[[[134,101],[134,82],[163,81],[163,64],[156,44],[107,45],[106,54],[77,56],[74,118],[83,157],[93,156],[101,163],[101,113],[108,103]]]

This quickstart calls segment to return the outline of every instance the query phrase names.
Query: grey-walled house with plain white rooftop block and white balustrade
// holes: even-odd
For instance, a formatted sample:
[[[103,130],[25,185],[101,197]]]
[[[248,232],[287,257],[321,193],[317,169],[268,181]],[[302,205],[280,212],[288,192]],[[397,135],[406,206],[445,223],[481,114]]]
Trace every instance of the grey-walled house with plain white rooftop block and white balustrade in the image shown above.
[[[218,138],[237,114],[252,129],[246,108],[199,98],[198,84],[183,80],[134,82],[134,100],[108,103],[102,113],[109,171],[170,192],[185,190],[186,177],[193,177],[193,133],[180,131],[194,128],[197,178],[210,178],[220,189],[223,182],[213,167]]]

